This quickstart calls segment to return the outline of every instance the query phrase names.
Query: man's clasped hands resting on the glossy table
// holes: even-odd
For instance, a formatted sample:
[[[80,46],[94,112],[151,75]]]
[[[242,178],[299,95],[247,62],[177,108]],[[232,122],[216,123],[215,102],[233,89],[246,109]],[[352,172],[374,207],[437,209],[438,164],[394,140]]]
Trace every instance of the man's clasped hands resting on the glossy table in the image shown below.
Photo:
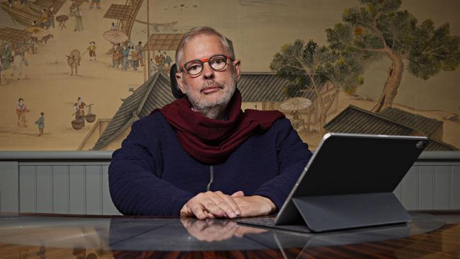
[[[201,192],[188,200],[180,209],[180,217],[234,219],[268,215],[275,209],[276,206],[270,199],[260,195],[244,196],[242,191],[232,195],[226,195],[221,191],[208,191]]]

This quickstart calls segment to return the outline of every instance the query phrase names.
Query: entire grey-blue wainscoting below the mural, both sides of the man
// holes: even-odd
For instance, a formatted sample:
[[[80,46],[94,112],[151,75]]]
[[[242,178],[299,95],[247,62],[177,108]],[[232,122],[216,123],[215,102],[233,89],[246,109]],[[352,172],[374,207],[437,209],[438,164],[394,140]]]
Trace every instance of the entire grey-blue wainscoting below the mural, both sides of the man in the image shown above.
[[[110,151],[0,151],[0,212],[119,215]],[[424,152],[398,187],[406,209],[460,209],[460,152]]]

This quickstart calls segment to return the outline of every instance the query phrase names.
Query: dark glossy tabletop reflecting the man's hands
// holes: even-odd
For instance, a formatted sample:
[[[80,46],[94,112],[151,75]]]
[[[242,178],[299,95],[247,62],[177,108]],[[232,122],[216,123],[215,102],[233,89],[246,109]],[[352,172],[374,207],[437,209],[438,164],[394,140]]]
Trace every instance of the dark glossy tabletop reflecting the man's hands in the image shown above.
[[[231,220],[0,217],[0,258],[460,258],[460,214],[323,234]]]

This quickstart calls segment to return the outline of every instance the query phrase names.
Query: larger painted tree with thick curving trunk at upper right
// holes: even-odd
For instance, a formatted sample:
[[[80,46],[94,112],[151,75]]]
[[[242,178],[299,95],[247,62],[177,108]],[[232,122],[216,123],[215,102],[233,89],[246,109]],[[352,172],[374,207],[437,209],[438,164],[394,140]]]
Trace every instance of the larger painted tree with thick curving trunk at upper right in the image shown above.
[[[430,19],[418,24],[401,0],[360,0],[362,6],[347,8],[343,23],[326,30],[335,50],[362,52],[391,60],[384,89],[372,111],[393,104],[407,62],[410,74],[430,79],[439,71],[452,71],[460,62],[460,38],[450,35],[449,23],[435,28]]]

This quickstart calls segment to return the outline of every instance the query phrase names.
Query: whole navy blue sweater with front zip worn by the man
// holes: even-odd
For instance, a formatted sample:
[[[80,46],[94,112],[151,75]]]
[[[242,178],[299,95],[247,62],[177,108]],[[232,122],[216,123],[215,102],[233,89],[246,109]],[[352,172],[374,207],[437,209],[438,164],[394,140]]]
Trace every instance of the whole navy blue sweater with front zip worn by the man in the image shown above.
[[[189,156],[161,113],[132,125],[109,167],[110,195],[122,214],[173,215],[193,196],[209,190],[268,197],[280,209],[311,157],[289,120],[255,132],[224,163]]]

